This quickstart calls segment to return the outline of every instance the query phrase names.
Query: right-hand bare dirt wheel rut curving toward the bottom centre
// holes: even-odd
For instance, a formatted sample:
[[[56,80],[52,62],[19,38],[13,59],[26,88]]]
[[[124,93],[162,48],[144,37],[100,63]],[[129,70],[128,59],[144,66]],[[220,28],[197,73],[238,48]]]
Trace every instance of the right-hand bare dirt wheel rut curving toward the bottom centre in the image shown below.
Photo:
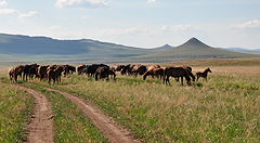
[[[118,126],[112,118],[107,117],[95,105],[90,102],[68,94],[64,91],[46,88],[49,91],[54,91],[63,94],[68,100],[74,102],[84,114],[88,116],[94,125],[108,138],[112,143],[139,143],[129,131]]]

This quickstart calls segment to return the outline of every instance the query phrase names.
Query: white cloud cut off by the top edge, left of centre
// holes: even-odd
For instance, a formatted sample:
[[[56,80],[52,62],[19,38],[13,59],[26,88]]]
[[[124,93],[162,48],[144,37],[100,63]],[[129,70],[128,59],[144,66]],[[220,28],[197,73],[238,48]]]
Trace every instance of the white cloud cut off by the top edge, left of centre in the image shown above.
[[[67,6],[96,9],[106,8],[108,6],[108,3],[106,0],[56,0],[56,6],[58,9]]]

